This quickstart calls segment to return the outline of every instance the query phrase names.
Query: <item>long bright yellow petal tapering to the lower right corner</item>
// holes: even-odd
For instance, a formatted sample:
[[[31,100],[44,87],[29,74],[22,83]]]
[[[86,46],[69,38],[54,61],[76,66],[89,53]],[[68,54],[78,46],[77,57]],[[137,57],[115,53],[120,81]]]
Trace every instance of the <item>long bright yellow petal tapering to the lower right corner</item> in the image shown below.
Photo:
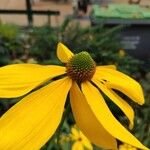
[[[82,91],[97,120],[113,137],[140,149],[148,150],[147,147],[138,141],[116,120],[116,118],[110,112],[98,89],[96,89],[91,83],[85,82],[82,84]]]

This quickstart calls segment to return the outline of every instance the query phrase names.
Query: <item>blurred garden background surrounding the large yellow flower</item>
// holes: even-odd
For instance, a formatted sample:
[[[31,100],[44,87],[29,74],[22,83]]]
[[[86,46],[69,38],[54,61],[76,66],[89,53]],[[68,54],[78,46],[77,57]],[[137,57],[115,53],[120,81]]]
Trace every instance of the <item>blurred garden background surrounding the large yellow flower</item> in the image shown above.
[[[57,43],[74,53],[88,51],[98,65],[114,64],[143,87],[145,104],[135,110],[131,131],[150,147],[150,1],[149,0],[0,0],[0,66],[14,63],[59,64]],[[136,93],[135,93],[136,94]],[[1,99],[0,115],[18,99]],[[128,128],[123,112],[107,97],[117,119]],[[70,150],[75,122],[67,116],[59,138],[42,149]],[[118,145],[121,145],[118,141]],[[97,148],[93,145],[95,150]],[[126,147],[131,149],[131,147]]]

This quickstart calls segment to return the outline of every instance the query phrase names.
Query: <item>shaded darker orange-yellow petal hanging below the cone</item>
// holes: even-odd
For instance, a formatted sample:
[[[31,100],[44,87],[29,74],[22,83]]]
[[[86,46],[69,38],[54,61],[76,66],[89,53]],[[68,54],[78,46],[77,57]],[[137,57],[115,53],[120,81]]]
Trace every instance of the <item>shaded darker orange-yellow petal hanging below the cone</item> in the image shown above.
[[[75,82],[71,87],[70,98],[76,124],[84,135],[100,147],[116,149],[116,140],[98,122]]]

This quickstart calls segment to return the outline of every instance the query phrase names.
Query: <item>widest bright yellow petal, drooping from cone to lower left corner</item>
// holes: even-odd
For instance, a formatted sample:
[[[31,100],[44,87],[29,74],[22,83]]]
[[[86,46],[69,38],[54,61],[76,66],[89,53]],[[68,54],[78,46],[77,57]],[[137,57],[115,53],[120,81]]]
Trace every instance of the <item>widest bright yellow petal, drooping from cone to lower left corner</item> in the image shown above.
[[[71,80],[63,78],[31,93],[0,119],[1,150],[37,150],[61,121]]]

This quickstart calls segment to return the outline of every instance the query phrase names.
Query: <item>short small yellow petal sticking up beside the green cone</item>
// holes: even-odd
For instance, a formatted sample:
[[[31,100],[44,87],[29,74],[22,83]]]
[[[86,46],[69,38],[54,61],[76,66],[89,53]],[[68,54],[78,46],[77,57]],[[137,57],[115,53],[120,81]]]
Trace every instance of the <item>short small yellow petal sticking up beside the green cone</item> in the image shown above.
[[[62,43],[58,43],[57,57],[63,63],[67,63],[74,54]]]

